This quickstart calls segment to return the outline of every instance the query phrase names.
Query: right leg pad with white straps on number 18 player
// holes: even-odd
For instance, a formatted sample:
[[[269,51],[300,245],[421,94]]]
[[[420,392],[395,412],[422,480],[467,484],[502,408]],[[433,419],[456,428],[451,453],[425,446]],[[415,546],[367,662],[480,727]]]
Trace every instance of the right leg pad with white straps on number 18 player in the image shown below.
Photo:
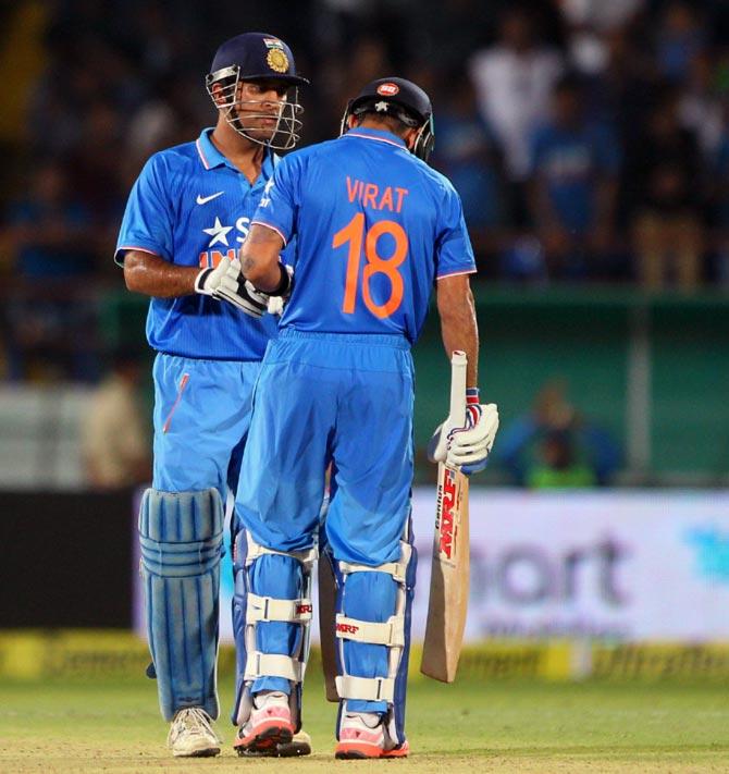
[[[405,696],[417,553],[374,567],[334,560],[337,583],[338,727],[344,713],[380,712],[391,738],[405,741]]]

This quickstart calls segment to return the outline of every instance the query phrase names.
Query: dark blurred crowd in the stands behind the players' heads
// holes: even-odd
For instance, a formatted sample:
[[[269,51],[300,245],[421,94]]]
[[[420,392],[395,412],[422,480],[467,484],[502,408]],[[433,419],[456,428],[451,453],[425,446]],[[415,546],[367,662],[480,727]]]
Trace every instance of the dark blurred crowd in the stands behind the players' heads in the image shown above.
[[[310,77],[304,144],[336,135],[373,77],[432,95],[433,163],[464,199],[481,277],[729,286],[721,0],[58,0],[35,27],[17,24],[23,5],[38,3],[0,10],[17,62],[38,51],[29,69],[3,59],[4,88],[27,107],[2,133],[10,380],[33,378],[28,353],[98,376],[87,302],[119,288],[129,186],[150,153],[213,123],[210,57],[245,29],[283,37]]]

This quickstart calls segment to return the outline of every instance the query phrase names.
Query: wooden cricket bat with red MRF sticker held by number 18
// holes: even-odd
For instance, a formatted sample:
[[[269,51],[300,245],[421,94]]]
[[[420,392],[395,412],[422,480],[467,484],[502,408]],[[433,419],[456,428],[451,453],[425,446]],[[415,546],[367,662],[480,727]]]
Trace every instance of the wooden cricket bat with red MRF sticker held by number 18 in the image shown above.
[[[450,427],[461,427],[466,420],[466,353],[454,352]],[[469,572],[468,477],[440,463],[430,600],[420,671],[443,683],[453,683],[456,678],[466,627]]]

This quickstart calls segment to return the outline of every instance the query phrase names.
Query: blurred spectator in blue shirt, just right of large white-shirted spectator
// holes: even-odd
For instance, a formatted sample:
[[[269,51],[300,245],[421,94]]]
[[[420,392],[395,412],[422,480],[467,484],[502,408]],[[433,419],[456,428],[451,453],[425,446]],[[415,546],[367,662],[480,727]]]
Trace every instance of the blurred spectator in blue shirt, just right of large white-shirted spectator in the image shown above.
[[[620,153],[611,130],[589,122],[576,75],[558,83],[552,116],[531,139],[532,221],[548,275],[601,277],[615,250]]]

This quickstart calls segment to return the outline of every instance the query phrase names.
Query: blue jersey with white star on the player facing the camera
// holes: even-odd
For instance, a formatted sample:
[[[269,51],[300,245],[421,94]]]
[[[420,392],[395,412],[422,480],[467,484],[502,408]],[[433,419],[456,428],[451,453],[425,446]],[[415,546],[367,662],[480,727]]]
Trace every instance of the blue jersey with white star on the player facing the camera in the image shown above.
[[[251,216],[273,174],[276,157],[267,152],[251,186],[212,144],[212,130],[152,156],[126,205],[114,259],[146,250],[176,266],[211,267],[236,257]],[[276,333],[270,315],[252,318],[226,302],[194,294],[152,298],[147,339],[158,352],[184,357],[260,360]]]

